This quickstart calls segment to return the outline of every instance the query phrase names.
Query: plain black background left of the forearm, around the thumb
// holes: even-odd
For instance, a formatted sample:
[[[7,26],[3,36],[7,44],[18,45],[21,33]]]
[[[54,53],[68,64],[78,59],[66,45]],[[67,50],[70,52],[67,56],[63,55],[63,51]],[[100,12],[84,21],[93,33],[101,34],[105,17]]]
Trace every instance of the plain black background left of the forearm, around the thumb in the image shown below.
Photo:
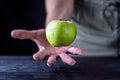
[[[0,0],[0,55],[32,55],[38,48],[31,40],[10,36],[13,29],[44,27],[44,0]]]

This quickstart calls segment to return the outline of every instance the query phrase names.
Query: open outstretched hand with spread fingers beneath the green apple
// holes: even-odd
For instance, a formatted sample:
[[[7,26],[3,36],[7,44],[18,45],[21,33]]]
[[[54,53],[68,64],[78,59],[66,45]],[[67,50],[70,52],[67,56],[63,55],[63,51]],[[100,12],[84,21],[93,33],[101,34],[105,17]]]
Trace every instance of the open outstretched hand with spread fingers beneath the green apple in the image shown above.
[[[56,62],[56,58],[60,57],[61,60],[68,65],[75,65],[76,61],[70,57],[67,52],[71,54],[86,55],[86,52],[80,48],[72,46],[52,47],[45,36],[45,29],[40,30],[13,30],[11,36],[17,39],[30,39],[36,43],[39,51],[33,55],[35,60],[42,60],[48,57],[47,65],[52,66]]]

